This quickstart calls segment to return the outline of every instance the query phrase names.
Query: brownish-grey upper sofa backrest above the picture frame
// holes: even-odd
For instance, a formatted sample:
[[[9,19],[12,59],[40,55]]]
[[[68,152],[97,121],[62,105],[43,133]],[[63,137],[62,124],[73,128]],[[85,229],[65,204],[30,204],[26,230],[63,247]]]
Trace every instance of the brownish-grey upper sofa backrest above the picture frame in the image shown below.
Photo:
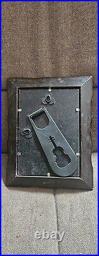
[[[8,77],[93,76],[97,3],[3,2],[3,88]]]

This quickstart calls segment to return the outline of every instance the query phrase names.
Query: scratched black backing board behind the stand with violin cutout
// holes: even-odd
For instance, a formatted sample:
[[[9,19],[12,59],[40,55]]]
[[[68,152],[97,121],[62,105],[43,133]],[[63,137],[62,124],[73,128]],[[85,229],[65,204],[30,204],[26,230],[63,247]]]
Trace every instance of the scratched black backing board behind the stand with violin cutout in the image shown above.
[[[22,109],[22,112],[19,112],[18,121],[18,151],[22,155],[18,157],[18,175],[47,176],[47,173],[50,172],[51,176],[56,176],[49,166],[27,117],[28,114],[33,113],[42,106],[49,111],[74,152],[79,152],[79,112],[76,111],[76,108],[79,108],[79,89],[53,88],[51,95],[55,98],[55,104],[44,105],[42,99],[48,93],[48,89],[45,88],[19,90],[18,107]],[[39,116],[36,125],[44,127],[45,124],[45,119]],[[30,127],[32,138],[22,136],[21,131],[25,127]],[[59,162],[60,156],[58,157]],[[79,177],[79,164],[76,172],[71,176]]]

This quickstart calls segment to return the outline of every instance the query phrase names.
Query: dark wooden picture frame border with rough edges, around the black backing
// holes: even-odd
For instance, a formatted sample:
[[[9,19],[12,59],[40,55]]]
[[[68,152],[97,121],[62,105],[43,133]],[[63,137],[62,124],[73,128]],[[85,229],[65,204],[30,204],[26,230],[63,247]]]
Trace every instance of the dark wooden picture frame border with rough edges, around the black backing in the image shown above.
[[[79,88],[80,92],[80,176],[36,177],[17,175],[18,145],[18,90],[25,88]],[[8,79],[8,165],[7,186],[36,186],[44,188],[93,189],[93,166],[91,164],[91,97],[93,79],[70,78],[10,78]]]

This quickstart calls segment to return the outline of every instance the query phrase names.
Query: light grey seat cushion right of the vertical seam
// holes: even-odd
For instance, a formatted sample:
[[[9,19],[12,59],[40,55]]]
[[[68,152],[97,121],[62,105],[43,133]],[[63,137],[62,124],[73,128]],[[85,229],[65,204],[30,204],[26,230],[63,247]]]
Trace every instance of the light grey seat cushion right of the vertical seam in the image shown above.
[[[97,254],[97,158],[92,155],[93,191],[56,191],[58,230],[65,230],[62,254]]]

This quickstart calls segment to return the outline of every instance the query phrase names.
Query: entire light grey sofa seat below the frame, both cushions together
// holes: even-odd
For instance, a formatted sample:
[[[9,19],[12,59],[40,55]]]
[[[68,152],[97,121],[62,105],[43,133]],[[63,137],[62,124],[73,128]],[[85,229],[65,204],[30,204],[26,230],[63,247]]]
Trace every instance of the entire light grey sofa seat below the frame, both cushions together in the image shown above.
[[[97,254],[97,154],[93,191],[6,188],[3,154],[2,254]],[[65,231],[63,241],[37,240],[34,232]]]

